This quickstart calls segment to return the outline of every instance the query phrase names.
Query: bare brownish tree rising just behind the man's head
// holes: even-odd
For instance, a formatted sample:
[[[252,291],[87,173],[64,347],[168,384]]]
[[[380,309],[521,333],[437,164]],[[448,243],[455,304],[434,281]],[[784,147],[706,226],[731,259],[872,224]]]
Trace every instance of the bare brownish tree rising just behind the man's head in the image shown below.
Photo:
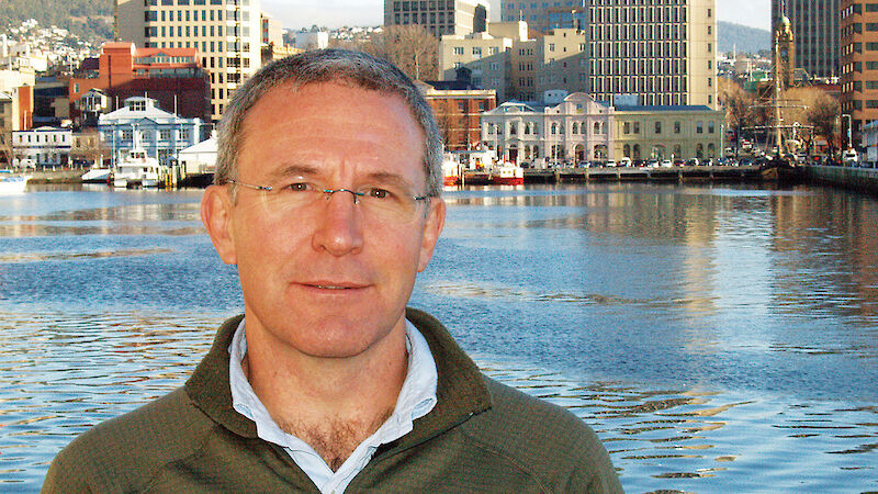
[[[421,25],[386,26],[361,49],[399,67],[414,80],[435,80],[439,74],[439,42]]]

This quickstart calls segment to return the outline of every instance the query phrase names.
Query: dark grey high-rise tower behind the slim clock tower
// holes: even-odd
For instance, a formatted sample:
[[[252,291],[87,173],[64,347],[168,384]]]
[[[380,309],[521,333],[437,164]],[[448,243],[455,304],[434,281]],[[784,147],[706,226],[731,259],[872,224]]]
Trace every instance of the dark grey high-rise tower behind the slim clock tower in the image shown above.
[[[860,2],[864,3],[864,2]],[[796,34],[796,67],[809,76],[838,77],[841,0],[772,0],[772,31],[786,14]]]

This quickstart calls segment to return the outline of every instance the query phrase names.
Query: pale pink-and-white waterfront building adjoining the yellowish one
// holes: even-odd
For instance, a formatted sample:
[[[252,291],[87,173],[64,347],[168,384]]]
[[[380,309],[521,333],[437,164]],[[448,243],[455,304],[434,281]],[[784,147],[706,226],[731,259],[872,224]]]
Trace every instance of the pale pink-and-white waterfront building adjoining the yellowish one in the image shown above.
[[[553,105],[506,102],[482,114],[482,146],[536,167],[614,159],[614,111],[583,92]]]

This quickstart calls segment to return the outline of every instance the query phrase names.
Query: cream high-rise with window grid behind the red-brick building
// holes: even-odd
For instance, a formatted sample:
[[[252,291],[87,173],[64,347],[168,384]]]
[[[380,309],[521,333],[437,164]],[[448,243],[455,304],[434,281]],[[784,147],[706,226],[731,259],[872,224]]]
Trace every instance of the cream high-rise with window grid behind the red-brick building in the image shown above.
[[[196,48],[211,75],[211,120],[260,65],[259,0],[115,0],[116,36],[147,48]]]

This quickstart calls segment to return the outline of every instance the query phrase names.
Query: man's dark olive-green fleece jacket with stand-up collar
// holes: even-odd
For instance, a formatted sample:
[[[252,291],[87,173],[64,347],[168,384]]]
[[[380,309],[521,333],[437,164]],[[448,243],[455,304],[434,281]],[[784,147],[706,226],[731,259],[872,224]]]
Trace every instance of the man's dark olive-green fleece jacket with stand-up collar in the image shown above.
[[[183,388],[74,439],[43,492],[317,492],[284,450],[232,407],[226,321]],[[383,445],[347,492],[621,492],[582,419],[486,378],[428,314],[406,317],[430,346],[438,403]]]

